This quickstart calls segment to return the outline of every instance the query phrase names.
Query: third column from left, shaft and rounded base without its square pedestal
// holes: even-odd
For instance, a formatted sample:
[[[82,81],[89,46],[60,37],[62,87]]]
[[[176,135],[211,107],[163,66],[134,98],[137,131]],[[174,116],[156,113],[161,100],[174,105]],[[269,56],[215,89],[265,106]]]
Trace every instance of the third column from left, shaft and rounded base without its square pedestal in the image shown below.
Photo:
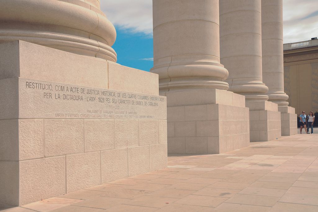
[[[261,42],[261,0],[220,0],[221,63],[229,70],[229,90],[246,101],[268,99]]]

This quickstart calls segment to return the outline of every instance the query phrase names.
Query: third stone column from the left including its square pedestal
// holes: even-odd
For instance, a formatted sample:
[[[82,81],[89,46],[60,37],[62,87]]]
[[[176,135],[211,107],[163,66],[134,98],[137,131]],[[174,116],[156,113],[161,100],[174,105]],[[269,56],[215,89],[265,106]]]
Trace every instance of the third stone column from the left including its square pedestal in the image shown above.
[[[279,138],[278,105],[262,81],[261,0],[220,0],[220,46],[229,90],[245,95],[250,109],[251,141]]]

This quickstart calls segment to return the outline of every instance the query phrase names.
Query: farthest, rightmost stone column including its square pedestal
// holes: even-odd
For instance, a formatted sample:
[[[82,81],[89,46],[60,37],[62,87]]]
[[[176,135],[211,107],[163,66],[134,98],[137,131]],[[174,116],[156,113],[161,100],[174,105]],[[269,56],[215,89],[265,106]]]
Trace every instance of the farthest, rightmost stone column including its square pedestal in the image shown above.
[[[295,108],[289,107],[284,92],[283,1],[262,0],[262,67],[263,82],[269,101],[281,112],[281,134],[297,134]]]

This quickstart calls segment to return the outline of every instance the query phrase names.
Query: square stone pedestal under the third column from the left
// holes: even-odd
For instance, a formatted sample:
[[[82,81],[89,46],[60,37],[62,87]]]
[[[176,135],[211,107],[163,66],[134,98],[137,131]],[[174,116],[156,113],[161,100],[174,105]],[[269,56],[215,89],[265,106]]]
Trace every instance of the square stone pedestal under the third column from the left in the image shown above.
[[[250,141],[271,141],[281,138],[278,105],[269,101],[246,102],[250,109]]]

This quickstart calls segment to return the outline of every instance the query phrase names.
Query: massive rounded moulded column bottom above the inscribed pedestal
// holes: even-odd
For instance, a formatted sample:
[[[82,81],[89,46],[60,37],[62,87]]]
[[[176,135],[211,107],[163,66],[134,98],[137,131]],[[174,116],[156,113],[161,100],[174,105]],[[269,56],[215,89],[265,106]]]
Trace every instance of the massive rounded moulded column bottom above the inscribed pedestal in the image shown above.
[[[113,24],[100,0],[0,0],[0,43],[24,40],[116,62]]]

